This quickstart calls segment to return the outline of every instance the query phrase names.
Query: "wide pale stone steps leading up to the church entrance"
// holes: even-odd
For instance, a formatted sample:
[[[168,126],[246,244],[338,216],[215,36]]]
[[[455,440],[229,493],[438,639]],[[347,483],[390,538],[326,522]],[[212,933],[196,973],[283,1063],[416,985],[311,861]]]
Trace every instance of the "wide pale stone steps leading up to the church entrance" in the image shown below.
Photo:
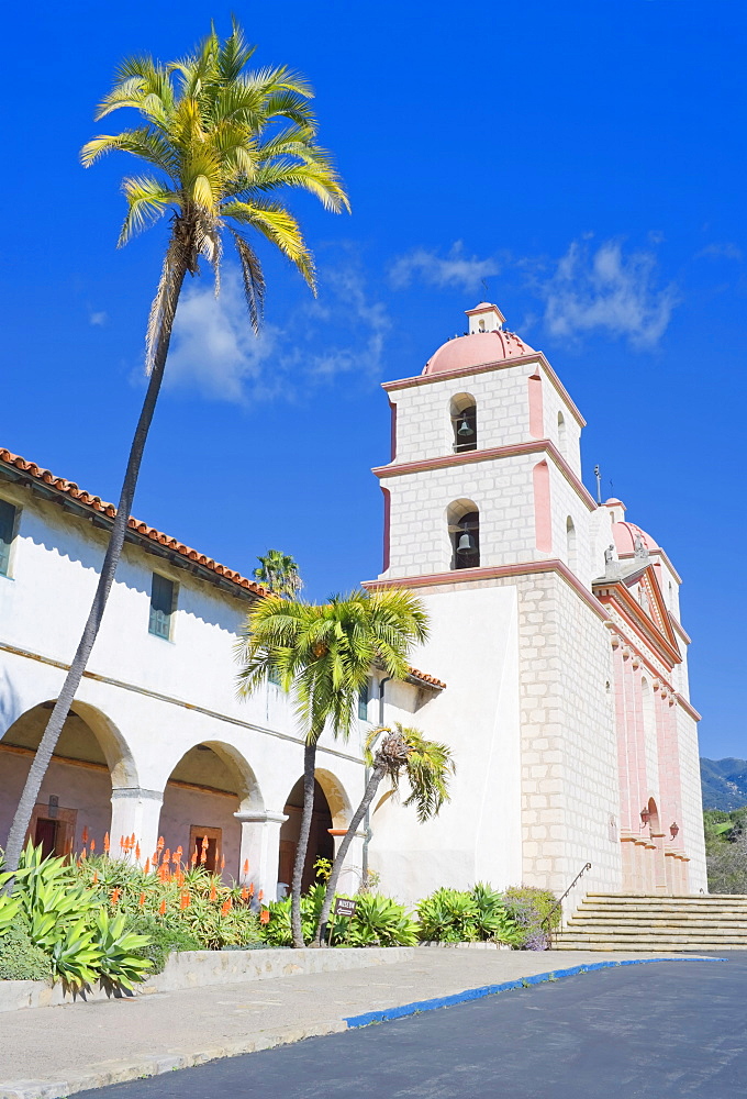
[[[587,893],[562,931],[558,951],[747,950],[747,896]]]

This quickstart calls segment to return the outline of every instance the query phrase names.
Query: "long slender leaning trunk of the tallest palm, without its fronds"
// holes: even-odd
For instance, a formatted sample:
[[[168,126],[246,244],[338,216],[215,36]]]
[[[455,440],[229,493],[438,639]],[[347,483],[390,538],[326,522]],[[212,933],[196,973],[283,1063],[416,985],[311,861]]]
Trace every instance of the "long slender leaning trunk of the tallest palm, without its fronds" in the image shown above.
[[[179,300],[179,292],[181,291],[181,286],[188,270],[187,249],[183,247],[183,242],[177,241],[176,237],[177,229],[175,227],[175,233],[169,244],[169,249],[167,251],[167,260],[164,277],[161,278],[161,286],[159,287],[159,293],[161,293],[163,288],[165,289],[163,295],[160,324],[158,329],[153,370],[150,373],[150,380],[148,382],[145,400],[143,401],[143,408],[137,421],[137,428],[135,429],[132,446],[130,448],[130,457],[127,458],[124,482],[120,493],[120,502],[116,509],[116,515],[114,517],[112,532],[109,536],[107,553],[104,554],[103,564],[101,566],[101,575],[99,576],[99,582],[96,588],[96,595],[93,596],[93,602],[91,603],[91,609],[88,612],[88,619],[86,620],[86,625],[83,628],[80,642],[78,643],[78,648],[75,657],[73,658],[70,669],[65,677],[65,682],[63,684],[57,701],[55,702],[54,709],[49,715],[49,721],[47,722],[44,735],[42,736],[33,763],[29,769],[26,782],[23,787],[23,793],[21,795],[18,809],[15,810],[13,823],[8,836],[8,843],[5,845],[5,870],[14,872],[18,869],[21,851],[23,848],[23,840],[31,822],[34,806],[36,804],[36,798],[38,797],[38,791],[47,767],[49,766],[52,755],[57,746],[59,734],[63,731],[63,725],[65,724],[83,671],[86,670],[86,665],[88,664],[88,658],[91,654],[91,650],[93,648],[93,643],[101,628],[101,620],[107,607],[107,600],[109,599],[109,593],[111,591],[112,584],[114,582],[116,566],[119,565],[120,556],[122,554],[122,546],[124,544],[124,536],[127,530],[130,513],[132,511],[135,487],[137,485],[137,475],[140,473],[141,462],[143,458],[143,451],[145,448],[148,430],[153,421],[160,384],[164,378],[164,367],[166,366],[166,356],[168,354],[168,346],[171,340],[171,329],[174,326],[174,317],[177,309],[177,302]],[[167,270],[166,268],[169,264],[169,255],[172,257],[172,263],[170,268]],[[5,888],[10,889],[11,887],[12,879],[7,884]]]

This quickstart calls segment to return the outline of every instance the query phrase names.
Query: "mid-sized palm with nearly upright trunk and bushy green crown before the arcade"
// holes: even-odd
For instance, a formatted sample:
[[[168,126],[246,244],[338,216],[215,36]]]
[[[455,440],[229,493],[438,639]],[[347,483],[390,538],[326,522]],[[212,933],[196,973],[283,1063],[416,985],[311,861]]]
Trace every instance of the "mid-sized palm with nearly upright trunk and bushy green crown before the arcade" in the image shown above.
[[[327,724],[334,736],[346,739],[371,665],[377,662],[388,676],[404,678],[411,646],[426,636],[422,603],[401,588],[372,595],[353,591],[333,596],[321,606],[268,596],[249,612],[237,651],[243,664],[239,693],[250,695],[272,679],[293,698],[305,731],[303,809],[291,882],[294,946],[304,945],[301,882],[314,808],[319,739]]]

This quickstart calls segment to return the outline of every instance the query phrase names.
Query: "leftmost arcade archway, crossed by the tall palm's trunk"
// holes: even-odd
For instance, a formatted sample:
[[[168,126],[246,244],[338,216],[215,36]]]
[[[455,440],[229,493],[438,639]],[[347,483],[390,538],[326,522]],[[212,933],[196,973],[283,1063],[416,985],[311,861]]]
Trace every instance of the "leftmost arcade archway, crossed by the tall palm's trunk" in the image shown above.
[[[55,700],[22,713],[0,741],[0,844],[4,845],[29,769]],[[76,701],[42,781],[27,839],[45,855],[67,855],[83,844],[103,851],[115,788],[137,786],[122,735],[96,707]],[[83,839],[85,837],[85,839]]]

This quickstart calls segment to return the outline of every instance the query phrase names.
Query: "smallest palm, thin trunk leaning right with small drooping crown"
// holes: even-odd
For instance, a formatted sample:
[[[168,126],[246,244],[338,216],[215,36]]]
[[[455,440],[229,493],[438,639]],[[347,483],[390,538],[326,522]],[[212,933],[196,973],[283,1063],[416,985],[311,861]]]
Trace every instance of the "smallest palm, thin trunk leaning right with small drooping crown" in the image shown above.
[[[374,745],[382,733],[387,735],[375,753]],[[415,806],[417,821],[421,824],[435,817],[443,803],[449,799],[449,779],[455,770],[451,750],[446,744],[426,740],[417,729],[405,728],[399,721],[394,722],[392,729],[374,729],[366,744],[366,763],[371,768],[370,776],[360,804],[353,814],[353,820],[347,826],[347,832],[343,836],[332,864],[324,902],[316,924],[314,946],[321,946],[324,940],[330,909],[345,856],[381,780],[383,778],[391,779],[392,789],[398,790],[400,778],[406,777],[410,784],[410,793],[403,804]]]

